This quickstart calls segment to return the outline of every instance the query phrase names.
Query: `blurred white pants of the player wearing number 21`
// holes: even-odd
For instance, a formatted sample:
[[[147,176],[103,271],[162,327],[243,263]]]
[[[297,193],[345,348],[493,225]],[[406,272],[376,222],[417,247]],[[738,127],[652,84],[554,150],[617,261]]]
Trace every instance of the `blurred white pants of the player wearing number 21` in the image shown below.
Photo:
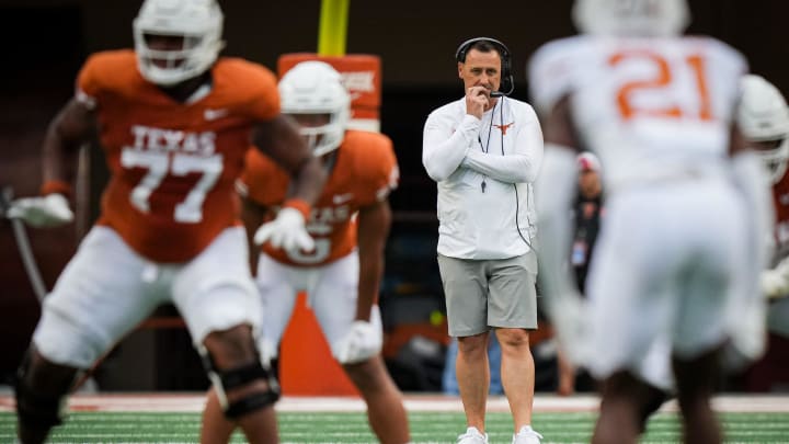
[[[593,375],[629,369],[655,384],[671,374],[672,353],[693,358],[724,341],[731,310],[752,296],[746,218],[724,179],[607,201],[590,271]]]

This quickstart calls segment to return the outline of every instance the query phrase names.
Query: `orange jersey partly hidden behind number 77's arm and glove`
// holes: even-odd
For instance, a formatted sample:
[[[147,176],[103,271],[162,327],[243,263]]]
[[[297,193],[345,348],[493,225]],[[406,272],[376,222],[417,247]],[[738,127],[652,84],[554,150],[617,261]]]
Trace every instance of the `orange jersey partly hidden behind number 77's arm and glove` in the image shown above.
[[[289,180],[285,171],[256,149],[247,153],[241,182],[251,201],[266,207],[281,206]],[[322,265],[351,253],[356,247],[354,214],[386,200],[398,180],[397,158],[387,136],[346,132],[329,180],[307,223],[316,249],[288,253],[266,243],[263,251],[278,262],[297,266]]]

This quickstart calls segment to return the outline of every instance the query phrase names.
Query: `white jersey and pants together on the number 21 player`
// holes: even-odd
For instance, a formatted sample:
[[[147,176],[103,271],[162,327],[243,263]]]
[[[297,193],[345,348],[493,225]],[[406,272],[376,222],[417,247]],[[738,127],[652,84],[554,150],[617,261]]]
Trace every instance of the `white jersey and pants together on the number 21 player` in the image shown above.
[[[745,70],[708,37],[579,36],[530,64],[534,103],[548,114],[568,100],[578,148],[605,171],[584,338],[597,378],[629,369],[666,382],[670,353],[719,346],[750,297],[756,258],[728,152]]]

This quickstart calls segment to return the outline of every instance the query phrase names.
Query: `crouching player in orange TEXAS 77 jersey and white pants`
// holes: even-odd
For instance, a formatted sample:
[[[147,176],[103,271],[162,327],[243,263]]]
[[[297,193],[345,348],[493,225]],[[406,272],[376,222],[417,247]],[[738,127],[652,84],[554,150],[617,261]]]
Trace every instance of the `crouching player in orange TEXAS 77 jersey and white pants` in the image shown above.
[[[293,183],[262,235],[309,249],[305,220],[325,173],[281,114],[274,73],[218,58],[222,20],[214,0],[146,0],[135,50],[92,55],[50,124],[42,196],[10,210],[37,226],[71,220],[77,152],[98,128],[112,177],[101,217],[46,298],[20,367],[25,444],[61,423],[76,375],[165,303],[186,321],[225,415],[249,442],[278,440],[278,390],[254,341],[261,303],[233,183],[252,140]]]

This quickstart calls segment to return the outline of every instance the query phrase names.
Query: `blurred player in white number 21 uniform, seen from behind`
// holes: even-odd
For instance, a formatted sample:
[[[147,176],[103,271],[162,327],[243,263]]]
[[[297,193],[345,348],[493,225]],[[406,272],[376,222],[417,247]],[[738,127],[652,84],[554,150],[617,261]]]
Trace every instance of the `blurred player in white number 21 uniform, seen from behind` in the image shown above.
[[[570,357],[604,380],[593,443],[637,441],[649,396],[638,375],[665,356],[661,344],[685,442],[720,442],[709,403],[719,353],[730,311],[756,295],[769,220],[758,158],[733,124],[746,61],[681,37],[685,0],[576,0],[573,12],[585,35],[545,45],[529,75],[546,139],[540,273]],[[601,158],[608,193],[588,307],[562,266],[581,149]]]

